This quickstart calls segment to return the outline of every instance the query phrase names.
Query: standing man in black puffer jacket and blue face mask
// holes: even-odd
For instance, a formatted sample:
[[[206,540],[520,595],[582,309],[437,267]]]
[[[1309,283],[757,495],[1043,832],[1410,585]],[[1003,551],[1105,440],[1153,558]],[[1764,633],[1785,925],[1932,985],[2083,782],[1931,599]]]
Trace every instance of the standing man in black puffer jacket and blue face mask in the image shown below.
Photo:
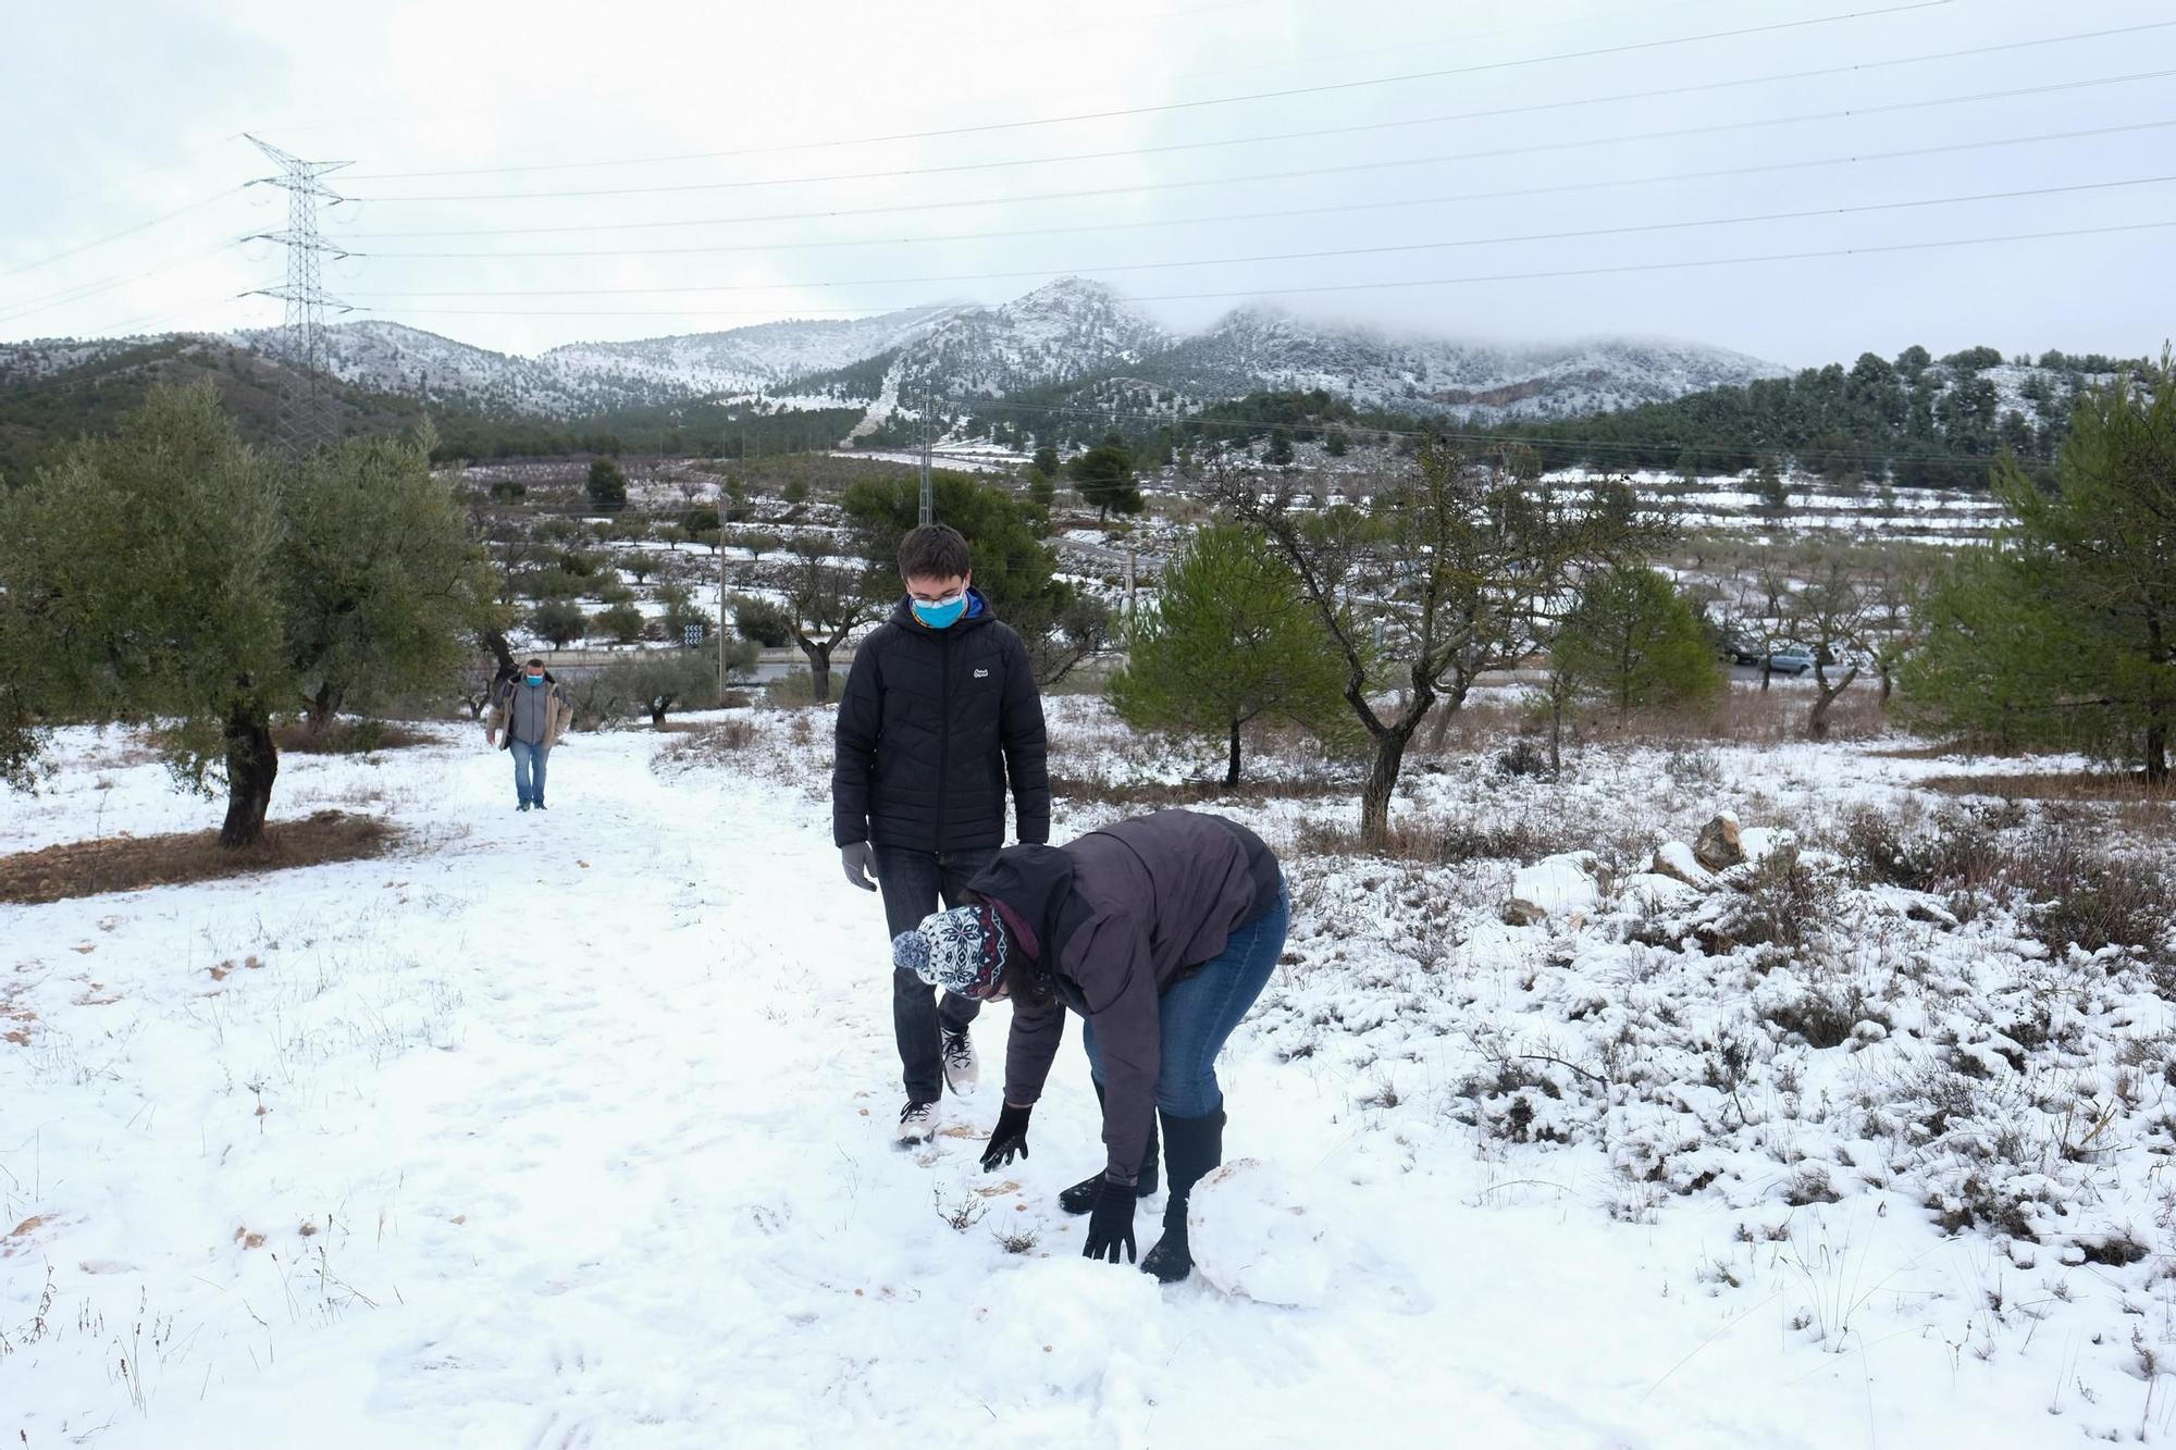
[[[973,588],[966,540],[923,525],[899,544],[907,597],[862,640],[838,705],[831,838],[846,880],[883,893],[892,936],[957,906],[966,882],[1005,845],[1010,779],[1018,840],[1051,836],[1042,697],[1021,636]],[[875,882],[870,882],[875,871]],[[936,1132],[949,1084],[975,1084],[968,1023],[979,1002],[892,971],[892,1030],[907,1106],[899,1136]]]

